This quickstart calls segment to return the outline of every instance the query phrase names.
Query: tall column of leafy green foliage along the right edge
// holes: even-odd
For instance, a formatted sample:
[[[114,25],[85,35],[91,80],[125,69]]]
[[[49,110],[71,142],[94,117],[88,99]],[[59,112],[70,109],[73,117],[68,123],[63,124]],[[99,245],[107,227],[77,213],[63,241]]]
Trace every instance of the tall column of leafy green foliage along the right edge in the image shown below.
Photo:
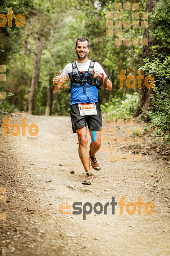
[[[149,34],[155,46],[151,48],[152,60],[145,59],[142,67],[145,74],[155,79],[152,107],[146,114],[153,129],[155,142],[170,143],[170,1],[159,0],[155,3],[149,17]],[[145,130],[148,126],[145,124]]]

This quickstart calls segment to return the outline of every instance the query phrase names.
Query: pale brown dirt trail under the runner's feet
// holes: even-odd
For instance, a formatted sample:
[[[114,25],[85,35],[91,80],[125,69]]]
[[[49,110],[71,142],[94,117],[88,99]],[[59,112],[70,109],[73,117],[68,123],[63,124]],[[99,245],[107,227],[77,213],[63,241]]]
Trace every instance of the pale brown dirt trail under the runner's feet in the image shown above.
[[[78,138],[72,133],[70,117],[19,113],[10,117],[10,126],[20,125],[22,117],[26,117],[28,126],[37,124],[39,133],[34,138],[28,131],[26,137],[21,132],[17,137],[10,132],[7,137],[0,135],[0,186],[6,187],[8,201],[0,203],[0,212],[6,213],[6,220],[0,221],[0,255],[170,255],[170,177],[166,163],[154,155],[143,156],[142,162],[108,162],[108,155],[98,152],[102,169],[92,169],[93,184],[84,186]],[[103,123],[103,127],[106,125]],[[123,148],[118,153],[124,153]],[[69,185],[93,192],[74,190]],[[73,215],[72,207],[71,214],[59,212],[62,202],[71,206],[82,202],[83,209],[86,202],[104,206],[112,196],[115,202],[125,196],[126,205],[136,205],[141,196],[144,205],[154,204],[154,213],[146,214],[142,206],[138,215],[137,205],[133,215],[127,213],[126,205],[122,215],[115,206],[113,215],[109,205],[107,215],[92,210],[86,220],[83,214]]]

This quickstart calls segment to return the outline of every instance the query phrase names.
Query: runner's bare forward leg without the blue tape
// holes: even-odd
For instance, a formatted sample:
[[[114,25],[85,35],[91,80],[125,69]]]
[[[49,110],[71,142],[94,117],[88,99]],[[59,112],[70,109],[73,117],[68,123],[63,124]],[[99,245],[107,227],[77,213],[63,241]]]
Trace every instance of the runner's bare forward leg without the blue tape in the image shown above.
[[[81,159],[81,162],[85,168],[85,172],[90,172],[90,159],[89,159],[89,151],[87,148],[87,130],[86,127],[84,126],[83,128],[79,128],[76,130],[77,135],[78,135],[78,142],[79,142],[79,147],[78,147],[78,153]]]

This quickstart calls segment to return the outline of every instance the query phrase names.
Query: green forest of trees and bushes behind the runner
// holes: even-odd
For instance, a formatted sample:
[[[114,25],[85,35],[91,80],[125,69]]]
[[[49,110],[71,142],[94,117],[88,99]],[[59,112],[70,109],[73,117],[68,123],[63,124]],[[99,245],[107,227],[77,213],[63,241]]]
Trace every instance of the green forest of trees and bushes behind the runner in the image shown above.
[[[52,81],[66,64],[77,60],[75,41],[80,36],[90,40],[88,59],[99,62],[108,76],[118,76],[126,70],[126,78],[138,70],[151,75],[155,84],[146,88],[129,89],[124,81],[119,88],[98,90],[99,103],[106,117],[130,118],[152,127],[153,136],[161,136],[163,143],[170,143],[170,1],[128,1],[131,10],[115,10],[115,3],[127,1],[79,0],[0,0],[0,14],[7,17],[8,9],[15,15],[22,14],[25,24],[18,27],[8,19],[0,27],[0,65],[6,65],[6,81],[0,81],[0,114],[28,111],[34,115],[69,115],[70,93],[62,88],[54,93]],[[140,10],[132,10],[132,3],[139,3]],[[131,27],[122,26],[122,45],[115,46],[115,36],[106,36],[106,12],[122,12],[122,21],[130,20]],[[132,19],[132,12],[140,12],[139,19]],[[141,12],[148,12],[149,27],[133,28],[132,20],[139,20]],[[113,15],[113,24],[114,24]],[[3,19],[0,19],[3,22]],[[19,19],[19,22],[21,20]],[[109,29],[109,28],[107,28]],[[113,26],[114,29],[115,27]],[[141,38],[149,44],[141,45]],[[140,38],[139,45],[123,45],[123,38]],[[137,81],[137,80],[136,80]],[[131,81],[132,82],[132,81]],[[68,84],[66,84],[68,85]],[[149,125],[149,126],[148,126]],[[149,128],[148,128],[149,127]]]

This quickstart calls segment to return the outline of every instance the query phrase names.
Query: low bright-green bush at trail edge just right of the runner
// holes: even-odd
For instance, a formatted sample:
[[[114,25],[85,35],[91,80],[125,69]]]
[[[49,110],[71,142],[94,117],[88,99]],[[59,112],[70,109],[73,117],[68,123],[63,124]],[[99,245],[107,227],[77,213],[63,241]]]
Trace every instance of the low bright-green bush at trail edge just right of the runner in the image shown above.
[[[110,103],[100,105],[102,113],[109,113],[107,117],[114,118],[131,118],[138,102],[138,93],[123,94],[123,100],[121,98],[112,98]]]

